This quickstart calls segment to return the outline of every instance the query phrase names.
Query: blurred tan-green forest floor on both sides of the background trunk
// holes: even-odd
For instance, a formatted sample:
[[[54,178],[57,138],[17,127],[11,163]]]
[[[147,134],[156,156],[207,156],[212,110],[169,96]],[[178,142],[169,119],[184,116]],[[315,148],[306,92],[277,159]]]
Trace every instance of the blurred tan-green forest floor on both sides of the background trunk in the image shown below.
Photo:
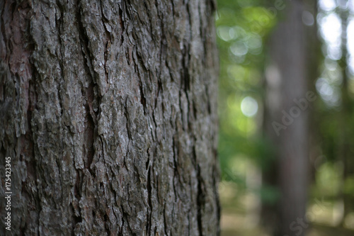
[[[222,184],[220,201],[222,205],[221,236],[270,236],[258,226],[259,200],[253,193],[240,194],[234,184]],[[329,203],[314,201],[309,204],[308,213],[315,217],[307,229],[307,236],[354,236],[354,214],[350,215],[348,228],[336,227],[335,209]],[[295,235],[295,234],[294,234]]]

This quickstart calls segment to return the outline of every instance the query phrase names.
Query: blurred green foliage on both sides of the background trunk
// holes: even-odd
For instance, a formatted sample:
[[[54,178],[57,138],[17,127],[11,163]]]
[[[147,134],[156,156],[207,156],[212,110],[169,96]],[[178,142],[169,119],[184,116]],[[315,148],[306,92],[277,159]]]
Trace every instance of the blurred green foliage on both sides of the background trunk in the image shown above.
[[[268,170],[275,158],[275,147],[265,140],[261,127],[263,68],[267,57],[265,40],[278,19],[281,21],[284,16],[282,11],[272,11],[272,4],[275,1],[219,0],[216,16],[220,58],[219,159],[222,179],[232,182],[229,186],[233,186],[238,196],[256,191],[261,201],[269,204],[280,197],[277,187],[263,185],[258,189],[249,189],[247,172],[252,165],[258,170]],[[338,18],[343,17],[343,9],[319,11],[314,17],[319,21],[319,33],[324,27],[321,21],[327,15],[335,13]],[[353,21],[353,16],[350,21]],[[307,28],[309,31],[313,29]],[[336,32],[331,33],[333,36]],[[315,38],[314,35],[312,37]],[[341,41],[341,35],[338,37]],[[353,55],[336,59],[329,55],[334,53],[333,47],[336,47],[338,55],[343,55],[343,47],[329,45],[325,37],[321,43],[314,38],[308,38],[309,47],[318,47],[318,50],[309,48],[307,52],[313,60],[309,65],[309,90],[316,91],[319,99],[309,108],[313,119],[309,127],[309,146],[311,159],[321,159],[321,163],[312,162],[314,182],[310,190],[312,199],[329,198],[335,203],[343,195],[354,199],[354,69],[353,66],[348,67],[348,60]],[[329,50],[330,47],[332,50]],[[316,68],[319,68],[319,74]],[[344,176],[346,168],[348,173]]]

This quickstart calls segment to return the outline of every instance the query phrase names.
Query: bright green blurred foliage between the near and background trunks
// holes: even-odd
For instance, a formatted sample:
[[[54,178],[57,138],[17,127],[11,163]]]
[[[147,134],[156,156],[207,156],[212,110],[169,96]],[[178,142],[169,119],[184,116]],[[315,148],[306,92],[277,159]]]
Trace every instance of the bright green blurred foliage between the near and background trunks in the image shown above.
[[[218,2],[219,157],[224,172],[232,168],[234,158],[252,159],[263,167],[273,157],[260,128],[264,38],[275,25],[275,19],[260,4],[260,1]],[[244,112],[243,102],[252,105],[246,104]]]

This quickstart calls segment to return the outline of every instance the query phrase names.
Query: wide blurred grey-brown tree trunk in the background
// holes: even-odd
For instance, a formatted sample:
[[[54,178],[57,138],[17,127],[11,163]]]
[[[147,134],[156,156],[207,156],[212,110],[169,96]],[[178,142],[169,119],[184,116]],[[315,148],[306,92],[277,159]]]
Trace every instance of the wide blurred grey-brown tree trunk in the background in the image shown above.
[[[273,181],[280,191],[273,223],[275,235],[299,236],[304,235],[307,227],[304,221],[309,168],[307,39],[302,23],[304,1],[285,1],[285,4],[269,41],[264,128],[275,146]]]

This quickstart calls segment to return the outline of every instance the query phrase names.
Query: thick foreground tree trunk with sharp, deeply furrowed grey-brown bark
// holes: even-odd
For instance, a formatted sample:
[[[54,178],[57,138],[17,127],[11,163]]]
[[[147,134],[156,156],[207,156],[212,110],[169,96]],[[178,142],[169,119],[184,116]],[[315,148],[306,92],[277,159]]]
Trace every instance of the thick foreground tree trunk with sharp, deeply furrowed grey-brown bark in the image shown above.
[[[1,235],[218,235],[215,3],[0,9]]]

